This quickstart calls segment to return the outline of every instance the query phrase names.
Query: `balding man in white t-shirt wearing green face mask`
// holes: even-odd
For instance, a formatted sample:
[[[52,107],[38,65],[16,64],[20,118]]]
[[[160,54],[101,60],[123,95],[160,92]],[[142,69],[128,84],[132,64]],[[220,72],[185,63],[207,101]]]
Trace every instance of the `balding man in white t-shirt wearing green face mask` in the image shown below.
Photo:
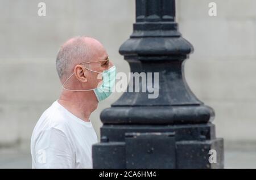
[[[90,114],[111,94],[115,66],[100,42],[75,37],[61,46],[56,69],[63,91],[36,123],[32,168],[92,168],[97,136]]]

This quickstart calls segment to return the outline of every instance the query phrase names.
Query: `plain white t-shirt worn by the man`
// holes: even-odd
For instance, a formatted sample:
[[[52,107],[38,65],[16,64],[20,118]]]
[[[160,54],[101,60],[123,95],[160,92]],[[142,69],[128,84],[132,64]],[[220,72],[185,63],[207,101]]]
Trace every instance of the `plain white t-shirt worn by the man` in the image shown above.
[[[91,122],[55,101],[32,133],[32,168],[92,168],[92,145],[97,141]]]

